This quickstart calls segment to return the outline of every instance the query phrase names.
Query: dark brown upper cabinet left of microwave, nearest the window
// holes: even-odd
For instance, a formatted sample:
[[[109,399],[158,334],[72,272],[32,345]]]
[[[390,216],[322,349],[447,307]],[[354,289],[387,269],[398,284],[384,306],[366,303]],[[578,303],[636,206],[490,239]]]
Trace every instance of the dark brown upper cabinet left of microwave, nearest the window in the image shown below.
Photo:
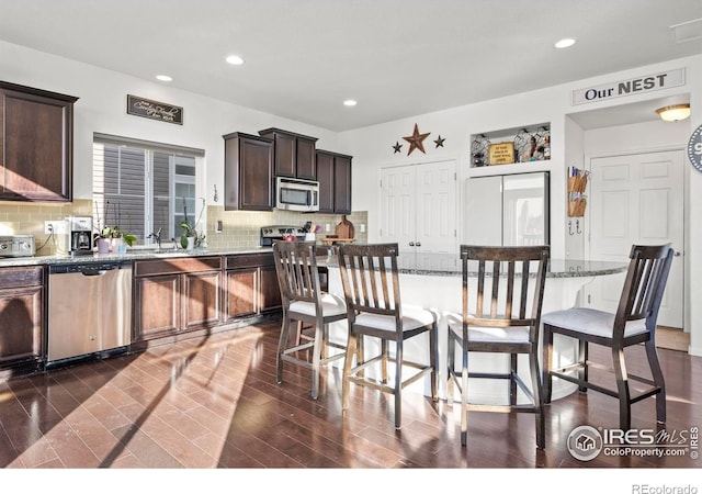
[[[224,209],[272,211],[273,141],[235,132],[224,137]]]

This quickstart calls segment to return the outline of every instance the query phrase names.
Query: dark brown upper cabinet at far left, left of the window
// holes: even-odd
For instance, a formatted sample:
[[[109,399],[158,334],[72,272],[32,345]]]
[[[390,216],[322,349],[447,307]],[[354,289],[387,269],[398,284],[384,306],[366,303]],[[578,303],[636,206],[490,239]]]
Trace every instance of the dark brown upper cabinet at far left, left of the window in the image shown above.
[[[77,100],[0,81],[0,200],[72,200]]]

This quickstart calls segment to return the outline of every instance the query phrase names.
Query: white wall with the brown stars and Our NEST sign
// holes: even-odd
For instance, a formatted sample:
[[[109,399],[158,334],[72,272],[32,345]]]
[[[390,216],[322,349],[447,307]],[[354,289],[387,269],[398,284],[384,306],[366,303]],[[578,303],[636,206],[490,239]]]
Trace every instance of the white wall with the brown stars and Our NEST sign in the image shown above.
[[[571,92],[587,87],[611,83],[647,76],[650,74],[686,68],[686,85],[676,88],[652,91],[614,100],[571,105]],[[690,120],[679,124],[664,124],[652,122],[625,126],[609,127],[602,131],[585,132],[579,128],[568,114],[605,109],[619,104],[627,104],[649,99],[673,97],[690,93],[693,115]],[[670,60],[637,69],[579,80],[568,85],[545,88],[513,97],[485,101],[450,110],[416,115],[411,119],[399,120],[381,125],[374,125],[355,131],[341,133],[340,146],[347,148],[354,156],[353,167],[353,201],[354,206],[367,210],[369,242],[377,240],[377,218],[380,215],[380,193],[377,188],[378,172],[383,167],[400,166],[416,162],[431,162],[439,159],[456,159],[458,162],[460,183],[463,179],[475,173],[469,168],[471,135],[489,133],[500,128],[514,128],[541,122],[551,123],[552,159],[547,165],[552,180],[552,255],[554,257],[574,257],[584,252],[581,239],[568,239],[566,216],[566,172],[568,166],[586,165],[586,155],[607,153],[611,150],[649,150],[667,146],[684,147],[691,130],[702,122],[702,112],[694,109],[702,104],[702,56]],[[409,145],[403,137],[411,135],[414,125],[419,126],[420,133],[430,132],[424,141],[426,154],[414,151],[407,156]],[[435,148],[433,141],[441,135],[445,138],[442,148]],[[393,145],[403,144],[403,151],[395,154]],[[523,167],[518,165],[513,167]],[[509,167],[509,166],[508,166]],[[688,166],[688,168],[691,168]],[[521,170],[522,168],[520,168]],[[480,170],[483,171],[483,170]],[[691,191],[702,190],[702,173],[694,170],[686,172],[687,195],[690,198],[686,217],[688,244],[686,255],[690,267],[690,285],[687,293],[689,300],[702,296],[702,222],[694,218],[702,217],[702,194]],[[458,194],[464,188],[458,187]],[[458,210],[464,204],[464,198],[458,200]],[[580,225],[581,227],[584,225]],[[463,238],[463,235],[460,235]],[[568,240],[567,240],[568,239]],[[566,242],[567,240],[567,242]],[[573,250],[568,255],[568,250]],[[691,352],[702,355],[702,306],[687,304],[691,333]]]

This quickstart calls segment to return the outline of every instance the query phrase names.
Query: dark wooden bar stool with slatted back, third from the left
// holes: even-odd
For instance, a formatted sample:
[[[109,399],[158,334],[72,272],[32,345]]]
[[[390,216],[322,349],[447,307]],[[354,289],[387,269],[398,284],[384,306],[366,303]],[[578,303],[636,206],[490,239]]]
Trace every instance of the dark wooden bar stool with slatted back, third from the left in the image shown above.
[[[476,411],[533,413],[536,422],[536,448],[545,447],[539,339],[548,259],[548,246],[461,246],[463,313],[449,322],[448,396],[451,403],[454,386],[461,393],[462,446],[467,442],[468,411]],[[472,290],[471,281],[475,281],[475,290]],[[456,368],[456,347],[462,356],[461,368]],[[509,370],[469,372],[471,352],[507,353],[510,356]],[[518,374],[520,353],[529,357],[531,389]],[[468,402],[471,379],[507,381],[508,403],[489,405]],[[530,403],[517,402],[518,386]]]

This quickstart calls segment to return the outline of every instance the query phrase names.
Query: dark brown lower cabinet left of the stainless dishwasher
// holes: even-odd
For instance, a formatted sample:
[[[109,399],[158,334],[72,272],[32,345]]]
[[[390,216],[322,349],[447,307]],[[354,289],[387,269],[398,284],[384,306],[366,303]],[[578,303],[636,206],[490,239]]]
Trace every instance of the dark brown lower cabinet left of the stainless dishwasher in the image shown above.
[[[0,270],[0,371],[45,360],[45,273],[43,266]]]

